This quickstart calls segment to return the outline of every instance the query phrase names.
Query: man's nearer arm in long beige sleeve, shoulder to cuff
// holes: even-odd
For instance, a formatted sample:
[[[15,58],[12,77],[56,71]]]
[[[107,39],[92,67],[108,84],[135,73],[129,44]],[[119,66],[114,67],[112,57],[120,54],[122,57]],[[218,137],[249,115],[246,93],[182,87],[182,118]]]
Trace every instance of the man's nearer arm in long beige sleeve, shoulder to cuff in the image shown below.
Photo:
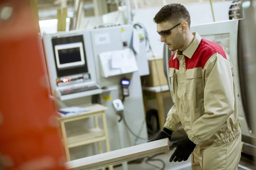
[[[210,139],[234,112],[232,65],[221,54],[213,54],[204,66],[205,113],[192,125],[189,139],[195,144]]]

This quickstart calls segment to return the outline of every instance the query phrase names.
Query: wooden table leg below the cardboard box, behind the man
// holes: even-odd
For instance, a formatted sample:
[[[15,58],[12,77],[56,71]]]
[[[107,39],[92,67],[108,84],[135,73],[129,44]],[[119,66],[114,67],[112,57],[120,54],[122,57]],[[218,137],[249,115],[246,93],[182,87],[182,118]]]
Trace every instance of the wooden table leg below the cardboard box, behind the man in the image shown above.
[[[162,129],[166,122],[166,117],[164,113],[163,97],[161,92],[156,93],[156,100],[157,100],[157,106],[158,106],[159,125],[160,125],[160,129]]]

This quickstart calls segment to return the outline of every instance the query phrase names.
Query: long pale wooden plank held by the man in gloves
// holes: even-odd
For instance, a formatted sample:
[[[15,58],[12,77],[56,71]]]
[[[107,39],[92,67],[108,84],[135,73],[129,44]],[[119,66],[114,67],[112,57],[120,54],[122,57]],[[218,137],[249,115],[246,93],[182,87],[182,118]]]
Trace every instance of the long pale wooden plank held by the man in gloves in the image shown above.
[[[131,161],[168,151],[169,139],[166,138],[69,161],[66,163],[66,167],[67,170],[91,170],[98,167],[105,167],[107,165],[118,164],[124,161]]]

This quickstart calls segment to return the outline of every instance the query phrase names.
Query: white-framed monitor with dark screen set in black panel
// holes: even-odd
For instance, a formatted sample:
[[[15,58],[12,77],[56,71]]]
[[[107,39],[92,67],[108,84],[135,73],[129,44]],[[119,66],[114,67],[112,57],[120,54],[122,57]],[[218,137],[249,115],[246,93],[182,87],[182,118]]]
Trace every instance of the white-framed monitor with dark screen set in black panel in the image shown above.
[[[88,73],[87,60],[90,60],[90,57],[87,58],[87,56],[92,56],[92,54],[90,54],[91,49],[87,48],[89,43],[87,39],[84,39],[83,35],[70,36],[69,34],[51,37],[58,78]]]

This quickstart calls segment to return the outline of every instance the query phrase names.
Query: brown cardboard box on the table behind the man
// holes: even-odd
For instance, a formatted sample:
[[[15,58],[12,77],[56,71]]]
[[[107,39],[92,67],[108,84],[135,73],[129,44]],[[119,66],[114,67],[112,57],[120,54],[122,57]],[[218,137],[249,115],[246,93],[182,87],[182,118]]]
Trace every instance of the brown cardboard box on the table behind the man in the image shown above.
[[[149,75],[146,76],[145,86],[155,87],[167,85],[168,82],[163,71],[163,58],[148,59],[148,65]]]

